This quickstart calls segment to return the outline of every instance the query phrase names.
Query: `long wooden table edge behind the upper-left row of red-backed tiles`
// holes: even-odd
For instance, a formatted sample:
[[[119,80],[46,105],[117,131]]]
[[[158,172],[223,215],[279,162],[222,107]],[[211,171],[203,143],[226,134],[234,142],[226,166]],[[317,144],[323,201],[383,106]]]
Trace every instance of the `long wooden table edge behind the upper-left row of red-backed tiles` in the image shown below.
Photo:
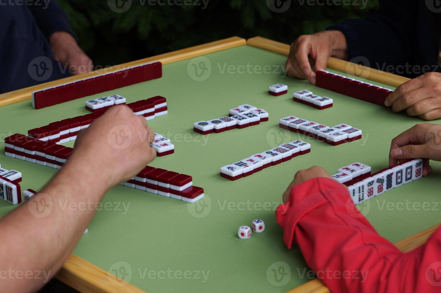
[[[219,41],[213,41],[202,45],[193,46],[186,49],[181,49],[169,53],[160,54],[157,56],[152,56],[140,60],[135,60],[119,65],[114,65],[112,67],[103,68],[81,75],[74,75],[66,77],[64,79],[57,79],[48,83],[41,83],[36,86],[30,86],[19,90],[14,90],[4,94],[0,94],[0,107],[5,105],[15,104],[21,101],[26,101],[32,98],[32,92],[36,90],[42,90],[48,87],[58,86],[66,83],[75,82],[77,80],[82,80],[97,76],[103,73],[109,73],[123,68],[130,68],[132,66],[143,64],[146,62],[161,61],[162,64],[170,64],[177,61],[194,58],[197,56],[206,55],[209,53],[219,52],[226,49],[231,49],[239,46],[247,45],[247,41],[239,37],[226,38]]]

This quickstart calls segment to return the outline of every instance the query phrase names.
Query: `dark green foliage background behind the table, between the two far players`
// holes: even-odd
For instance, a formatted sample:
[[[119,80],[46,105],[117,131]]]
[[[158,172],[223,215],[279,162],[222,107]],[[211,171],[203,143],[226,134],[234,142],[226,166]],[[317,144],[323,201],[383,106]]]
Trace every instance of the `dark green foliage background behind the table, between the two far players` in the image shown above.
[[[149,5],[148,0],[132,0],[128,11],[116,13],[109,8],[109,1],[115,0],[58,0],[69,15],[81,47],[94,64],[102,66],[232,36],[259,35],[289,44],[301,34],[324,30],[344,19],[364,17],[378,6],[378,0],[367,0],[365,9],[361,9],[361,0],[350,0],[358,6],[308,5],[311,0],[292,0],[288,11],[274,13],[266,0],[209,0],[206,9],[202,5],[160,6]],[[196,1],[202,4],[201,0],[192,3]]]

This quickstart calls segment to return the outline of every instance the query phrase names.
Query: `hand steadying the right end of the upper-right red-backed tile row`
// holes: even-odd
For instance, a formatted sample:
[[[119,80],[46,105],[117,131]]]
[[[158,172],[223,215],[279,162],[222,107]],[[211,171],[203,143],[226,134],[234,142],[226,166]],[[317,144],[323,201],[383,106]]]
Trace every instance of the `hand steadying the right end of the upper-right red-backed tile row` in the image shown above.
[[[426,73],[401,84],[386,98],[385,106],[424,120],[441,118],[441,73]]]

